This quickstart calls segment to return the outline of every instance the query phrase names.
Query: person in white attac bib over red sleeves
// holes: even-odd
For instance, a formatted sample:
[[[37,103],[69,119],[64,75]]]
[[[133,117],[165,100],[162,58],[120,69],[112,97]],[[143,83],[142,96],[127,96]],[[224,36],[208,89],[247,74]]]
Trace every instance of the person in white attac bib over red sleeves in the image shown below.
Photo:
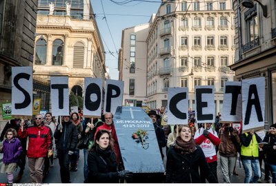
[[[220,139],[217,136],[217,132],[212,128],[212,123],[205,123],[205,125],[197,132],[195,132],[195,144],[200,145],[206,161],[210,167],[211,172],[217,178],[217,153],[215,147],[220,143]],[[201,178],[201,181],[205,183],[205,178]]]

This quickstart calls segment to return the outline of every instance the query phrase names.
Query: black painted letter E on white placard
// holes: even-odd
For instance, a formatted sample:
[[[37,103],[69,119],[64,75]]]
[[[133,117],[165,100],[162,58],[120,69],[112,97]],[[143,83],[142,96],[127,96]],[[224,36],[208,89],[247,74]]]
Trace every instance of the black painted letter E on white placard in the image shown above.
[[[212,94],[213,89],[211,88],[199,88],[197,91],[197,120],[213,120],[213,114],[202,114],[202,108],[208,107],[207,102],[202,102],[202,94]]]

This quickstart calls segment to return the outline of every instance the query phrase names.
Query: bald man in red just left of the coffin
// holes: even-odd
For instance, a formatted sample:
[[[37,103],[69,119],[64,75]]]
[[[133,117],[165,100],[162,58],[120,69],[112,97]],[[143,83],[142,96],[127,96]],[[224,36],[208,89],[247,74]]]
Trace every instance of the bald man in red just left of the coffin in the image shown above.
[[[114,144],[113,145],[113,151],[116,154],[116,161],[119,165],[121,155],[120,155],[118,138],[117,138],[117,134],[116,134],[116,131],[115,131],[115,126],[114,126],[114,123],[113,123],[113,114],[111,112],[106,112],[106,114],[104,114],[104,120],[105,120],[105,123],[103,123],[103,125],[101,125],[100,127],[97,127],[97,130],[95,132],[95,136],[96,136],[96,134],[99,130],[108,130],[111,133],[112,142]]]

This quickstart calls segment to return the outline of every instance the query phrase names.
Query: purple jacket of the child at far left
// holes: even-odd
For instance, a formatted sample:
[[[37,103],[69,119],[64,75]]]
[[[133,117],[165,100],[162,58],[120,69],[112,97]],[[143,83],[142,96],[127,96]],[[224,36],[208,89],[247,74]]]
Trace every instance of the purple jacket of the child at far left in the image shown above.
[[[3,141],[3,163],[17,163],[21,154],[22,147],[21,142],[18,138],[12,138],[11,141],[8,139]]]

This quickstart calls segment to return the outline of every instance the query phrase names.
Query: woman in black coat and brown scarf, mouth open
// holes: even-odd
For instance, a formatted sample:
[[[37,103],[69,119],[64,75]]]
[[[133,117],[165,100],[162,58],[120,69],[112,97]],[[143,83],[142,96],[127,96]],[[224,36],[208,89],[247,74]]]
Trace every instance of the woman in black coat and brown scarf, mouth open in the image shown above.
[[[199,169],[204,175],[199,174]],[[217,183],[204,152],[195,145],[190,126],[180,125],[175,144],[168,150],[166,183],[201,183],[201,177],[209,183]]]

